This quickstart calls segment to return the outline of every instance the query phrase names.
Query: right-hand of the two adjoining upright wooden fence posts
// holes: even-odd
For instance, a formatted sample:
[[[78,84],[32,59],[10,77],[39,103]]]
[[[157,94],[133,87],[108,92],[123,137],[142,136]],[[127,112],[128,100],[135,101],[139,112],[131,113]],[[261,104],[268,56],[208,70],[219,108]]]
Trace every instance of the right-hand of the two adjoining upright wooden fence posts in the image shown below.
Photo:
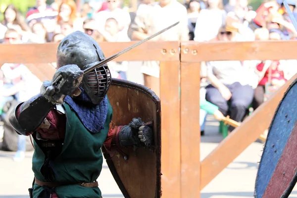
[[[200,198],[200,63],[181,63],[181,195]],[[162,101],[162,100],[161,100]]]

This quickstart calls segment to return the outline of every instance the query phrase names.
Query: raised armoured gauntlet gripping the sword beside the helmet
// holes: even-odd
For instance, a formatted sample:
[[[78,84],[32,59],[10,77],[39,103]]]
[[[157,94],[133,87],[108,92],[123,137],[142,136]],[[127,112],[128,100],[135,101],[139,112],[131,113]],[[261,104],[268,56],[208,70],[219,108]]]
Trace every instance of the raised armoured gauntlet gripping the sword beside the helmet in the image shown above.
[[[41,95],[54,104],[62,104],[83,80],[83,71],[77,65],[65,65],[54,73],[51,81],[44,81]]]

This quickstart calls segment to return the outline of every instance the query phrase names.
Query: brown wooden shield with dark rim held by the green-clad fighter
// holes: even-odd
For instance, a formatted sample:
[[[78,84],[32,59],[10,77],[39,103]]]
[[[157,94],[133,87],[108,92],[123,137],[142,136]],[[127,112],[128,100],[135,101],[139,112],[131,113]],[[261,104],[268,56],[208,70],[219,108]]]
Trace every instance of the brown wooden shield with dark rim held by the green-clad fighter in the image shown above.
[[[121,148],[108,153],[102,147],[108,167],[125,198],[161,197],[161,106],[160,99],[147,87],[112,79],[108,99],[113,107],[112,121],[127,125],[133,118],[152,121],[151,148]]]

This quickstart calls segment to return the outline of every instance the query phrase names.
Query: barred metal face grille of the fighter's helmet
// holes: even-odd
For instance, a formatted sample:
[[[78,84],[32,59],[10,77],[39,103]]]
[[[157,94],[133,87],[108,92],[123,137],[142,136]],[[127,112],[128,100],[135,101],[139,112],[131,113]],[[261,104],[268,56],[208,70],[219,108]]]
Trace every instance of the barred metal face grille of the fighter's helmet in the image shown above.
[[[111,74],[107,66],[101,66],[89,72],[88,85],[98,98],[103,98],[108,91]]]

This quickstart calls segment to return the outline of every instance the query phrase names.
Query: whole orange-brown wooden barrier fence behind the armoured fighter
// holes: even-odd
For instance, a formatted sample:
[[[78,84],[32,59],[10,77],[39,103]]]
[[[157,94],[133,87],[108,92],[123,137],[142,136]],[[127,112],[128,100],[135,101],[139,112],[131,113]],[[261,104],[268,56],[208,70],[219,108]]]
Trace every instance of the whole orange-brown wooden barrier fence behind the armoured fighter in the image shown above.
[[[108,57],[135,42],[100,43]],[[199,71],[201,61],[297,59],[297,41],[147,42],[117,61],[160,61],[162,112],[162,197],[200,198],[202,190],[266,129],[288,81],[257,108],[232,135],[200,162]],[[0,45],[0,64],[26,63],[41,80],[51,79],[57,44]],[[179,52],[180,48],[180,52]],[[281,50],[280,50],[281,49]],[[200,187],[200,188],[198,188]]]

